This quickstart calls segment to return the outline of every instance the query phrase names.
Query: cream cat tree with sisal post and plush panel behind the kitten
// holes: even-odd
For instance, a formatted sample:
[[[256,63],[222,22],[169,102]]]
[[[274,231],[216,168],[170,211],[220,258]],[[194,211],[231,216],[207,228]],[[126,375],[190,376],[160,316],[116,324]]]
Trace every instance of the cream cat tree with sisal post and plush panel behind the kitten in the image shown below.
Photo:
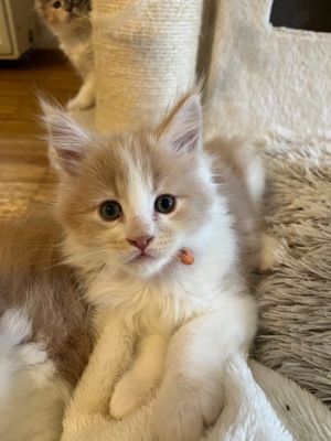
[[[190,88],[203,29],[202,36],[214,40],[202,54],[209,58],[211,52],[210,66],[203,66],[210,130],[329,131],[331,37],[274,28],[271,6],[273,0],[95,0],[98,128],[153,121]],[[202,28],[206,9],[213,17]]]

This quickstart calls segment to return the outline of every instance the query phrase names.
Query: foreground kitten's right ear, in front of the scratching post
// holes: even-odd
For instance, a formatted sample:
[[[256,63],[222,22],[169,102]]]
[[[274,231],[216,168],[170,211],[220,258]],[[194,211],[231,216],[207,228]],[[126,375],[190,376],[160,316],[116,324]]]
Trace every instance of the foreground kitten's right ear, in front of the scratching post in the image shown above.
[[[202,109],[199,94],[190,95],[180,103],[161,128],[160,139],[180,153],[201,148]]]

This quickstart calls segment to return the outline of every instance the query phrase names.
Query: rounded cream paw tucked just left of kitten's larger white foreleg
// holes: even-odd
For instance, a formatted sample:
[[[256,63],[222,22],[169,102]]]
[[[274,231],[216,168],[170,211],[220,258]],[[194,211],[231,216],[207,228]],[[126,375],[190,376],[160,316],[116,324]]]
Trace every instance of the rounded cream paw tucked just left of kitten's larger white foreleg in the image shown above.
[[[132,373],[126,374],[115,387],[110,400],[110,415],[121,419],[132,413],[154,396],[156,388]]]

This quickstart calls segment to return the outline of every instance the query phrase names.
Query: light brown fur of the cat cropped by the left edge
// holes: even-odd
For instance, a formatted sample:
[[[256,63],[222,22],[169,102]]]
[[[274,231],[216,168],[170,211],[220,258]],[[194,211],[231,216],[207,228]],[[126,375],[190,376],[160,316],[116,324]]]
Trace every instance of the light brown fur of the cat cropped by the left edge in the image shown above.
[[[43,343],[63,377],[75,384],[87,364],[87,306],[73,271],[61,262],[62,230],[51,214],[0,224],[0,316],[22,311],[31,341]]]

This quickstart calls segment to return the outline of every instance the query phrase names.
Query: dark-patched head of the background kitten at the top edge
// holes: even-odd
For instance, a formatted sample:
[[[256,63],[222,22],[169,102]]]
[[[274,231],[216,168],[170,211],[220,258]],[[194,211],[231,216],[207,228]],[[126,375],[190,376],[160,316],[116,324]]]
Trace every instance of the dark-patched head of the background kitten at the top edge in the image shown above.
[[[58,31],[76,20],[85,19],[90,10],[90,0],[35,0],[35,7],[49,26]]]

